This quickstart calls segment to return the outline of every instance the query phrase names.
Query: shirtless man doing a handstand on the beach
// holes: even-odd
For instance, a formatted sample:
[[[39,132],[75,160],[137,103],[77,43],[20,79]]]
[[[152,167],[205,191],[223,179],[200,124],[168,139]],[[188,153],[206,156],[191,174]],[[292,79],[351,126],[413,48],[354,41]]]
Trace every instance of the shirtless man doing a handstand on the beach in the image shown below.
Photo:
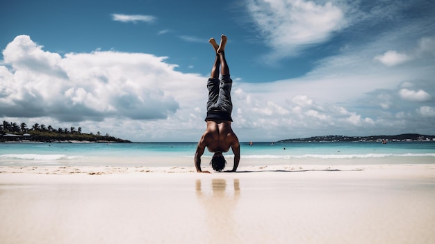
[[[227,36],[222,35],[220,44],[217,45],[214,38],[208,42],[211,43],[216,52],[215,63],[211,69],[210,79],[207,81],[208,101],[207,101],[207,129],[202,134],[199,140],[197,151],[195,153],[195,167],[197,172],[210,173],[201,170],[201,156],[204,154],[204,149],[214,152],[211,158],[211,166],[213,170],[222,171],[225,168],[223,152],[228,152],[229,148],[233,150],[234,165],[231,172],[236,172],[240,161],[240,144],[236,134],[231,129],[231,111],[233,104],[231,103],[231,86],[233,81],[229,76],[229,67],[225,60],[225,44],[227,44]],[[222,79],[219,79],[219,67]]]

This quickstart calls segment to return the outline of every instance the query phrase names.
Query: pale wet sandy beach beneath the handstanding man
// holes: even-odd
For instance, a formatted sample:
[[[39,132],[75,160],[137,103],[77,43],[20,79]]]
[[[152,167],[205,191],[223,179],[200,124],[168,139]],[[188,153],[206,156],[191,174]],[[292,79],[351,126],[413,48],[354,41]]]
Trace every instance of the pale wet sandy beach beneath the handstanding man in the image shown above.
[[[0,243],[435,243],[435,165],[0,167]]]

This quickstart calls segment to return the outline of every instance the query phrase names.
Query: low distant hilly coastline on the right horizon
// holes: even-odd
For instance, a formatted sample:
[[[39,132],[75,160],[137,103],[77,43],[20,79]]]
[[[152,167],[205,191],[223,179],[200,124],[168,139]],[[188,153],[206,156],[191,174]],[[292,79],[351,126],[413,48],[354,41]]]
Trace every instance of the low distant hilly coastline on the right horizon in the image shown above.
[[[395,136],[312,136],[309,138],[295,138],[279,140],[278,143],[303,143],[303,142],[375,142],[385,141],[435,141],[435,136],[420,134],[400,134]]]

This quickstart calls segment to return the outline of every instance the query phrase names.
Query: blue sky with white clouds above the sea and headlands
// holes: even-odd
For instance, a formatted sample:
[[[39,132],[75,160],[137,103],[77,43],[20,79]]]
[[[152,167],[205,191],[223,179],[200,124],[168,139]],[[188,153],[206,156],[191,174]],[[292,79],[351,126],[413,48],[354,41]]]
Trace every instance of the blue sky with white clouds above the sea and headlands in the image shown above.
[[[197,141],[224,33],[241,141],[434,134],[434,16],[422,0],[3,1],[0,119]]]

